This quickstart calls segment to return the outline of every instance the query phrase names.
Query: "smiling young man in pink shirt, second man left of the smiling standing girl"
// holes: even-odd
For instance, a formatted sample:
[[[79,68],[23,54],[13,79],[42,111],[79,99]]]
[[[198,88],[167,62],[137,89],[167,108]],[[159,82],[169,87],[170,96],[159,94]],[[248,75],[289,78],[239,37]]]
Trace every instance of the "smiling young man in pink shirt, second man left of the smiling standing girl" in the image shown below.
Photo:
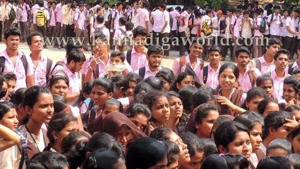
[[[202,40],[199,39],[199,44],[202,44]],[[203,51],[203,46],[199,45],[197,43],[197,39],[193,39],[191,42],[191,45],[189,46],[190,53],[185,56],[185,63],[183,63],[183,66],[180,70],[180,58],[176,58],[174,60],[172,71],[175,75],[178,75],[180,72],[185,71],[186,64],[192,68],[192,70],[195,72],[195,74],[198,74],[201,70],[201,61],[198,59],[198,56],[201,55]]]

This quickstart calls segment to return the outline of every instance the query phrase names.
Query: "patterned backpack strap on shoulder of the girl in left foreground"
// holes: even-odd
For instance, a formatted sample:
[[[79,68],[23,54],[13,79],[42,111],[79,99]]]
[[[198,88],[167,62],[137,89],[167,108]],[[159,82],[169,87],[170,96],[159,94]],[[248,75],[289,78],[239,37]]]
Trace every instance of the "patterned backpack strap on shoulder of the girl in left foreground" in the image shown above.
[[[21,151],[21,159],[19,163],[19,169],[23,168],[24,161],[25,163],[28,163],[28,153],[27,153],[27,135],[26,132],[22,128],[16,128],[14,130],[20,137],[21,137],[21,147],[18,144],[18,148]]]

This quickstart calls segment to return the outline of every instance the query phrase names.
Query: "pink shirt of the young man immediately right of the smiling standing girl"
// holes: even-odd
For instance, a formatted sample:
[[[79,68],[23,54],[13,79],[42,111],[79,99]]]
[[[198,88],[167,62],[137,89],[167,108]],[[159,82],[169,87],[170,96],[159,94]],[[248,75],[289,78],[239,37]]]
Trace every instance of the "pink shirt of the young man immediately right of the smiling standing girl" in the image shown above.
[[[249,72],[249,67],[246,66],[245,73],[243,75],[241,75],[239,73],[239,76],[238,76],[238,83],[239,83],[239,88],[238,89],[243,90],[244,92],[247,92],[250,88],[252,88],[249,73],[250,73]],[[259,75],[261,75],[260,71],[257,68],[254,68],[254,73],[256,74],[257,77]],[[256,86],[256,84],[255,84],[255,86]]]

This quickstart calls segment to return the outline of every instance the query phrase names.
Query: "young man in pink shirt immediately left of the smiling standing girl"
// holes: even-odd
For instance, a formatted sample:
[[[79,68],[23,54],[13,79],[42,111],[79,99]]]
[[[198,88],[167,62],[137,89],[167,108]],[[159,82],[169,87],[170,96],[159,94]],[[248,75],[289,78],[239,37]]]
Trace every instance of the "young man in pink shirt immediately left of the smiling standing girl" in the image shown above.
[[[209,64],[204,66],[199,74],[198,78],[206,86],[211,88],[217,88],[218,82],[218,72],[221,67],[221,48],[219,46],[210,46],[207,50]],[[204,74],[204,70],[207,70],[207,74]]]

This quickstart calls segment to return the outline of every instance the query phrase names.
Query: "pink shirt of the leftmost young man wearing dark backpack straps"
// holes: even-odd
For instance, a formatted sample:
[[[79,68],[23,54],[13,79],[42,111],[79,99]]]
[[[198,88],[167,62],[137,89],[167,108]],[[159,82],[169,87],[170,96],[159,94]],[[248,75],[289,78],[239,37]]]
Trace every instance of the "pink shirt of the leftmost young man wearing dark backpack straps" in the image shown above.
[[[27,74],[25,74],[24,66],[23,66],[23,63],[21,60],[22,54],[23,53],[21,52],[21,50],[18,49],[17,57],[16,57],[16,61],[15,61],[14,65],[6,52],[6,49],[4,49],[0,54],[0,57],[5,57],[4,72],[12,72],[16,75],[17,80],[15,83],[15,90],[17,90],[18,88],[21,88],[21,87],[27,87],[26,76],[33,75],[32,60],[28,56],[25,56],[27,58],[27,62],[28,62]]]

